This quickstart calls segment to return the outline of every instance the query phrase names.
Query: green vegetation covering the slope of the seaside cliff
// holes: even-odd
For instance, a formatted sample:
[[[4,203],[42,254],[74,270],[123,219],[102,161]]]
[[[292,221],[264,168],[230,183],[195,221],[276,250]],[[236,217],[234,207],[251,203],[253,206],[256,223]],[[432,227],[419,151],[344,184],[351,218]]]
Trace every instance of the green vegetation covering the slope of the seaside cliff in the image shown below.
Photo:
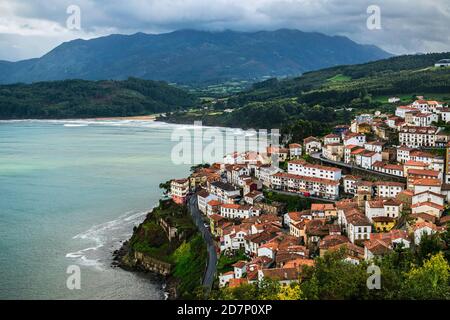
[[[170,229],[169,229],[170,228]],[[176,232],[175,232],[176,230]],[[181,298],[195,298],[206,266],[206,246],[185,206],[160,201],[145,221],[135,228],[123,261],[133,261],[135,252],[172,265]],[[129,267],[138,267],[134,261]]]

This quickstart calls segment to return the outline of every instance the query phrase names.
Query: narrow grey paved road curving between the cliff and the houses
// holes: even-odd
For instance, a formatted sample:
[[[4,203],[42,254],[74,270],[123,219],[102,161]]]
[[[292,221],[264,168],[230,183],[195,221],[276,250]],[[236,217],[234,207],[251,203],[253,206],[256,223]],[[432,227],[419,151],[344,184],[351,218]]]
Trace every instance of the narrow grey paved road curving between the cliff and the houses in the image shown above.
[[[202,213],[200,212],[200,210],[198,210],[196,195],[193,195],[189,199],[188,208],[192,215],[195,225],[197,226],[198,230],[203,236],[203,239],[206,242],[206,247],[208,250],[208,267],[203,277],[203,286],[210,291],[214,282],[214,276],[217,271],[217,252],[214,239],[209,229],[206,228],[204,225]]]

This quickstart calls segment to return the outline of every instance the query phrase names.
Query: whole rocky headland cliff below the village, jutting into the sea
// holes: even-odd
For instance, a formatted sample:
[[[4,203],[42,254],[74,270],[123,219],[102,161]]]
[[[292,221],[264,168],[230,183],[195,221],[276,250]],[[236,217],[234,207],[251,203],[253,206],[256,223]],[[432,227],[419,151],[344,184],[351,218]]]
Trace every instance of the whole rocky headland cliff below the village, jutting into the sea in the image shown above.
[[[195,298],[206,265],[206,246],[190,214],[171,200],[160,201],[115,255],[125,270],[164,277],[169,299]]]

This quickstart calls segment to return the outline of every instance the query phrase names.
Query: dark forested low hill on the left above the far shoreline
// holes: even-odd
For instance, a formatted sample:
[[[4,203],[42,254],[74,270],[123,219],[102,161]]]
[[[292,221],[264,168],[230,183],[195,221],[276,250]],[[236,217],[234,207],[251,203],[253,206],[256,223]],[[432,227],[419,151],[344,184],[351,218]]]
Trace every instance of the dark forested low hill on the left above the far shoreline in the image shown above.
[[[0,119],[147,115],[193,106],[196,99],[165,82],[65,80],[0,86]]]

